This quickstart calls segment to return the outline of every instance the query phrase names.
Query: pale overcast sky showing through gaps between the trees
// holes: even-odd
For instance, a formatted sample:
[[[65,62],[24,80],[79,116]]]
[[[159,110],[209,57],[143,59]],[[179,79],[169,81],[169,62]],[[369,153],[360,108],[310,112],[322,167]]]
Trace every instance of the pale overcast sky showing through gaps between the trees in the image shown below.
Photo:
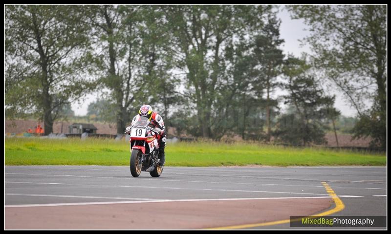
[[[287,10],[282,9],[278,13],[279,18],[281,19],[280,34],[281,38],[285,40],[285,43],[282,45],[284,54],[291,53],[294,56],[299,57],[302,52],[310,53],[310,48],[308,45],[300,46],[299,40],[303,39],[305,36],[309,35],[308,31],[305,31],[306,25],[303,20],[291,20]],[[279,96],[282,93],[276,92],[274,95]],[[342,114],[345,116],[355,116],[356,111],[352,108],[348,101],[342,96],[341,93],[334,91],[333,93],[328,93],[329,95],[336,95],[335,107],[341,110]],[[81,101],[81,104],[73,103],[72,109],[75,111],[76,115],[86,115],[88,105],[95,101],[97,94],[87,95],[84,100]],[[281,107],[282,104],[281,104]]]

